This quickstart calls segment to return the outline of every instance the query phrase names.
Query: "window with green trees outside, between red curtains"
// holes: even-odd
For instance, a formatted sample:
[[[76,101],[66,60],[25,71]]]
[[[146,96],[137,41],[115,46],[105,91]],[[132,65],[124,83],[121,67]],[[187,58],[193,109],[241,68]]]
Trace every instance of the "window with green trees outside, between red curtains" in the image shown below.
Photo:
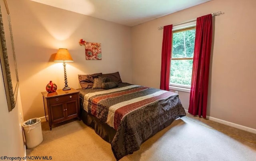
[[[196,27],[173,30],[170,85],[190,88]]]

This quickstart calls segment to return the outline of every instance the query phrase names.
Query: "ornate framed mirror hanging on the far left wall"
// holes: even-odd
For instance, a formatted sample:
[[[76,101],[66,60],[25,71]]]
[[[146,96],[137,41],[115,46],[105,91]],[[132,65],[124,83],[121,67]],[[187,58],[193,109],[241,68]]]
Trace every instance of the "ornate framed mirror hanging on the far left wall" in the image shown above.
[[[0,0],[0,62],[8,110],[16,105],[19,79],[16,65],[10,12],[6,0]]]

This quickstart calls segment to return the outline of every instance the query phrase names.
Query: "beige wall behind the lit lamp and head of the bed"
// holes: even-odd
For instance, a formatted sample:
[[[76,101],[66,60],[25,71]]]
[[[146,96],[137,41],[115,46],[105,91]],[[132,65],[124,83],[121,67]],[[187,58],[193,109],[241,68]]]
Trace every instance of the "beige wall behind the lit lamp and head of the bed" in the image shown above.
[[[80,88],[78,74],[120,72],[132,81],[131,28],[30,0],[8,1],[20,79],[24,119],[44,116],[41,92],[52,80],[64,87],[61,63],[52,62],[58,48],[68,48],[68,85]],[[102,44],[102,60],[85,60],[79,40]]]

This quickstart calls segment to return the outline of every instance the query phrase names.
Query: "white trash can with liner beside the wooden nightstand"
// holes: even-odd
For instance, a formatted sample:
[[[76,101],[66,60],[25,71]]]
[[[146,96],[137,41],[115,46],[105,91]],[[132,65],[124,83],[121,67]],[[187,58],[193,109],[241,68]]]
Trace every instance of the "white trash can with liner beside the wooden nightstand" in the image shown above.
[[[41,119],[33,118],[22,123],[28,149],[38,146],[43,141]]]

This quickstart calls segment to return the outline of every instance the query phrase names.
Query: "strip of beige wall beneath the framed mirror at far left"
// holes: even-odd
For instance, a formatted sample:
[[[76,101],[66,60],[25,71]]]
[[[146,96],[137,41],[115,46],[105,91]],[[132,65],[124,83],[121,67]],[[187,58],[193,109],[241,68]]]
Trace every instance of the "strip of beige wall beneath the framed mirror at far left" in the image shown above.
[[[24,157],[24,141],[21,131],[23,123],[20,91],[17,104],[12,111],[8,111],[2,69],[0,67],[0,156]]]

